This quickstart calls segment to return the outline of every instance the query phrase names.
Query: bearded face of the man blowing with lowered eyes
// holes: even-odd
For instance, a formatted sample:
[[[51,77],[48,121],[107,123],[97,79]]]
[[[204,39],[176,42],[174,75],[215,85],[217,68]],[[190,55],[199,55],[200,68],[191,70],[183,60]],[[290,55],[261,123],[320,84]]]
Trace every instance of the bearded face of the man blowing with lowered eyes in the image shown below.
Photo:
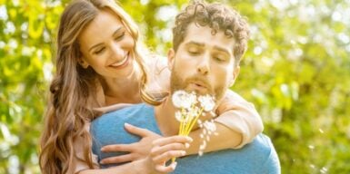
[[[235,39],[224,32],[212,34],[209,26],[189,24],[176,53],[168,53],[171,92],[208,93],[219,101],[239,73],[239,67],[234,65],[234,44]]]

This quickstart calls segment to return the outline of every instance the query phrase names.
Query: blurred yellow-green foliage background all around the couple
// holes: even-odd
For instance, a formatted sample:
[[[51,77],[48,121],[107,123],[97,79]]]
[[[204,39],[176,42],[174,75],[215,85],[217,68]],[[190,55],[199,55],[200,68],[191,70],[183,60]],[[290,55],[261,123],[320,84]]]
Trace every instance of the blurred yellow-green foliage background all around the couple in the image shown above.
[[[62,0],[0,0],[0,173],[40,173]],[[166,55],[185,0],[121,0]],[[252,37],[233,90],[253,102],[282,173],[350,173],[350,0],[223,0]]]

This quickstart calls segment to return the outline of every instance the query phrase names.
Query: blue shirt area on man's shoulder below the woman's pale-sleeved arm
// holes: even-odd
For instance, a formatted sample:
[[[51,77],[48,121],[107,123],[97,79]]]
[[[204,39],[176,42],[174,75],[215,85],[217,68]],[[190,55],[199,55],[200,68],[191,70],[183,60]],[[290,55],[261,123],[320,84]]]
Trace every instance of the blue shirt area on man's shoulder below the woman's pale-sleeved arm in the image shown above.
[[[279,170],[279,160],[270,138],[259,134],[253,142],[238,150],[219,150],[201,157],[192,155],[182,158],[178,160],[174,173],[278,174]]]

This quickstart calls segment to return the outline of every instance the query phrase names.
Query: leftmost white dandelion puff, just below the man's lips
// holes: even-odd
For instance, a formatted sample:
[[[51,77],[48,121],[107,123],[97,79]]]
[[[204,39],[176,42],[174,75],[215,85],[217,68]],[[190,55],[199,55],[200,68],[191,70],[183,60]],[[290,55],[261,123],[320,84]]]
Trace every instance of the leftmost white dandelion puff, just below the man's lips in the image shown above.
[[[187,93],[185,91],[174,92],[172,101],[176,108],[190,109],[196,103],[195,92]]]

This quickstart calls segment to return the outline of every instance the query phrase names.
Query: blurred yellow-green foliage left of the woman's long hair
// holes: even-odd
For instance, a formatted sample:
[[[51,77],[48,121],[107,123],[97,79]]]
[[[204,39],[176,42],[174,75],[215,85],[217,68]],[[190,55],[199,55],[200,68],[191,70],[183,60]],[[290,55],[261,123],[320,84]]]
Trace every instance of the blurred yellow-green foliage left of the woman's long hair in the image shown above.
[[[0,5],[0,173],[39,173],[38,138],[52,73],[52,36],[63,7]]]

